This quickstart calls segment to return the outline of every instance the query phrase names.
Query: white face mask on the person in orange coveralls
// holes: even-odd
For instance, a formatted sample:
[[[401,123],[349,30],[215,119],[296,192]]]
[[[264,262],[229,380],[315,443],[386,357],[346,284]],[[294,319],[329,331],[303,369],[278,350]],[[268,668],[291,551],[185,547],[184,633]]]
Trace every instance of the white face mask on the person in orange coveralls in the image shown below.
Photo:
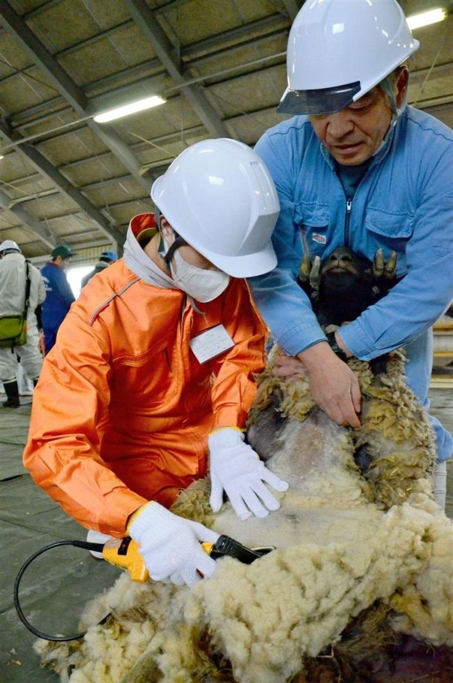
[[[168,249],[166,243],[165,246]],[[213,299],[220,297],[222,292],[227,289],[229,283],[229,275],[227,273],[218,269],[206,270],[190,265],[185,262],[178,249],[176,249],[170,261],[170,270],[175,285],[192,297],[192,299],[201,301],[201,303],[213,301]]]

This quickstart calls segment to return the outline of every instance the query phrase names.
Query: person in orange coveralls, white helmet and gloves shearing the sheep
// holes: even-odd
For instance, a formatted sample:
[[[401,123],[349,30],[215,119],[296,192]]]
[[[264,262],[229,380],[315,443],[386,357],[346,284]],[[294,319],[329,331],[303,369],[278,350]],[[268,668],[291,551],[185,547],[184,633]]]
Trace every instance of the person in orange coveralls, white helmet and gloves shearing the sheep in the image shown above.
[[[275,267],[279,203],[261,159],[228,139],[182,152],[151,197],[155,235],[153,214],[132,219],[124,257],[45,358],[24,465],[86,528],[135,538],[153,579],[191,585],[212,576],[200,542],[218,536],[167,508],[208,453],[213,510],[225,492],[241,519],[267,515],[265,482],[287,488],[243,435],[266,330],[242,278]]]

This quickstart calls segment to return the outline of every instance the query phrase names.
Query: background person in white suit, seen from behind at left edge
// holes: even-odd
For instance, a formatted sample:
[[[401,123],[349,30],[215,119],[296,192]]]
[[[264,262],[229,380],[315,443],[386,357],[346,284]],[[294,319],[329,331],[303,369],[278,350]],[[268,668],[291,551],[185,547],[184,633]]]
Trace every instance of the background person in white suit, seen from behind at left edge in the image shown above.
[[[45,299],[45,285],[37,268],[26,263],[20,246],[13,240],[5,240],[0,244],[0,316],[14,315],[24,311],[26,292],[26,268],[29,269],[30,295],[27,311],[27,338],[22,346],[0,348],[0,379],[6,391],[5,408],[20,406],[19,387],[17,385],[18,361],[26,375],[38,382],[43,356],[39,350],[40,334],[36,309]]]

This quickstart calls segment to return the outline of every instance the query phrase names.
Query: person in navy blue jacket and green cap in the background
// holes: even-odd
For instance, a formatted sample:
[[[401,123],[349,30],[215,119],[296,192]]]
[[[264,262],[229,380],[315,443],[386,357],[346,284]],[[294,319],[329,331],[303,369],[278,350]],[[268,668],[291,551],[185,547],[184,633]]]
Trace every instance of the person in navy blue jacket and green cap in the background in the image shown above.
[[[72,301],[75,301],[72,289],[66,279],[65,271],[70,265],[71,257],[76,255],[76,252],[72,251],[70,246],[61,244],[61,246],[56,246],[54,251],[52,251],[50,255],[52,260],[48,261],[41,268],[46,291],[43,313],[41,315],[46,354],[54,346],[56,333],[66,313],[68,313]]]

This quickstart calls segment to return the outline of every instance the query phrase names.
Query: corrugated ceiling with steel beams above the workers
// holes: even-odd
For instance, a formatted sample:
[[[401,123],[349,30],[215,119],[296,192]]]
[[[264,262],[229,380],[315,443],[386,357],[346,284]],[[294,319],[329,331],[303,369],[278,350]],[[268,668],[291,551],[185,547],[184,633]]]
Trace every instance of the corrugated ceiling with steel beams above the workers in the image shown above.
[[[401,4],[415,13],[439,3]],[[61,242],[121,247],[130,218],[153,210],[153,179],[186,146],[219,135],[253,145],[285,118],[276,107],[301,5],[0,0],[0,239],[36,258]],[[450,15],[419,30],[409,90],[410,102],[449,125],[452,29]],[[94,113],[151,94],[167,103],[93,123]]]

